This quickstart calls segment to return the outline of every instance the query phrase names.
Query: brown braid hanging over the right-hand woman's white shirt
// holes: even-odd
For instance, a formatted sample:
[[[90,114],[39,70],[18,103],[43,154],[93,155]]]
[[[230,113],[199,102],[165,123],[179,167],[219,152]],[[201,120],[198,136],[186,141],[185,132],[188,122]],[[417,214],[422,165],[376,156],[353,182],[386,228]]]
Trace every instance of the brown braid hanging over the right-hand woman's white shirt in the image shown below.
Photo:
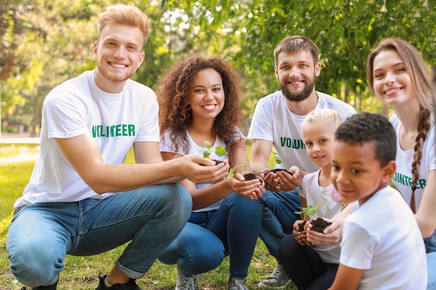
[[[419,167],[421,166],[422,147],[427,137],[427,132],[430,131],[430,111],[427,108],[419,109],[418,135],[416,135],[416,143],[413,147],[413,162],[412,162],[412,196],[410,197],[410,208],[413,213],[416,213],[415,191],[416,183],[419,179]]]

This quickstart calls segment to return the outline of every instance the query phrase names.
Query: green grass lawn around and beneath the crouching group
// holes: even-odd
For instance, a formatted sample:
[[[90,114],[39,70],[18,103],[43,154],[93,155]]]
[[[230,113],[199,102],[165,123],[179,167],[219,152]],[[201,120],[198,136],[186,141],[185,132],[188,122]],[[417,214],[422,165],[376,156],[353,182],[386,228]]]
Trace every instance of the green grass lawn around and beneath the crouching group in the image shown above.
[[[20,154],[20,150],[23,150],[17,150],[17,147],[13,145],[10,145],[10,147],[12,148],[2,145],[1,152],[3,152],[3,149],[8,148],[9,156],[15,156],[14,154]],[[29,150],[31,147],[33,146],[24,146],[24,148],[27,148],[24,150]],[[8,155],[5,154],[5,156]],[[132,151],[127,155],[125,162],[134,162]],[[2,290],[23,289],[23,285],[14,279],[9,270],[6,236],[9,221],[12,217],[13,203],[21,196],[24,186],[29,182],[33,166],[33,161],[0,165],[0,289]],[[29,238],[31,239],[31,237]],[[125,245],[91,257],[68,255],[65,257],[65,268],[61,272],[58,289],[94,289],[98,284],[98,274],[100,272],[108,273],[124,248]],[[247,287],[254,290],[258,289],[258,282],[269,275],[274,270],[275,265],[275,259],[268,254],[265,244],[258,239],[249,268]],[[138,280],[139,287],[150,290],[172,290],[176,284],[176,271],[175,265],[166,265],[156,261],[146,275]],[[205,273],[199,281],[199,286],[201,289],[227,289],[227,280],[228,257],[218,268]],[[295,288],[290,287],[289,289]]]

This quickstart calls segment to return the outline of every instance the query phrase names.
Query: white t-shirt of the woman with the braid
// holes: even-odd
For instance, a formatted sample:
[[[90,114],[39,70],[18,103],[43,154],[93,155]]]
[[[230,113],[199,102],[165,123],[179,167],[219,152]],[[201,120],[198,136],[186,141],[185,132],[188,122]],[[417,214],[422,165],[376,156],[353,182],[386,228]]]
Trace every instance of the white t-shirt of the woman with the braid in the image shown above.
[[[402,126],[400,120],[396,115],[392,115],[389,119],[391,124],[394,126],[397,136],[399,136],[400,128]],[[392,177],[392,182],[394,182],[398,191],[407,202],[410,204],[410,197],[412,196],[412,162],[414,150],[402,150],[400,147],[400,142],[397,138],[396,141],[396,171],[394,177]],[[421,204],[422,195],[424,192],[424,187],[428,180],[428,174],[430,170],[436,169],[436,141],[435,141],[435,122],[432,118],[430,130],[427,133],[426,140],[422,147],[422,158],[421,165],[419,168],[419,179],[416,183],[415,191],[415,202],[416,210],[419,209],[419,204]],[[436,194],[436,193],[435,193]]]

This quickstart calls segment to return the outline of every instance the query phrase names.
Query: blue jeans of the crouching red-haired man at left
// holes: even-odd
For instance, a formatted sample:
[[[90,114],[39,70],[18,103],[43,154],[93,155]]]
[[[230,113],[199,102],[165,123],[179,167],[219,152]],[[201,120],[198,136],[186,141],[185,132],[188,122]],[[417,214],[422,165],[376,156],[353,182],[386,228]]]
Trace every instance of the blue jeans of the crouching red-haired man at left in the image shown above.
[[[179,184],[147,186],[105,200],[29,204],[16,209],[6,248],[10,270],[22,284],[48,286],[65,255],[96,255],[127,245],[116,267],[138,279],[180,233],[192,198]]]

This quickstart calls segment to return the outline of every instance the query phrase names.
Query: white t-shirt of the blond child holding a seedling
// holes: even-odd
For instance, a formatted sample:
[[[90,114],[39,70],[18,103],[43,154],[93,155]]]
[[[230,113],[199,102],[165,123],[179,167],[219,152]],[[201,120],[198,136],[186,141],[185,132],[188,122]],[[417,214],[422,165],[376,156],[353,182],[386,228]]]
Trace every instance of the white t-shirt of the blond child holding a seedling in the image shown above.
[[[302,184],[299,186],[299,195],[306,199],[308,207],[309,205],[316,207],[318,202],[324,202],[324,204],[318,206],[318,217],[333,218],[341,212],[341,202],[336,202],[332,198],[333,184],[329,184],[327,187],[320,186],[318,183],[320,171],[304,175]],[[327,209],[326,205],[329,209]],[[316,216],[310,216],[310,218],[316,218]],[[339,264],[339,256],[341,254],[341,247],[339,245],[311,245],[311,247],[320,255],[322,261]]]

